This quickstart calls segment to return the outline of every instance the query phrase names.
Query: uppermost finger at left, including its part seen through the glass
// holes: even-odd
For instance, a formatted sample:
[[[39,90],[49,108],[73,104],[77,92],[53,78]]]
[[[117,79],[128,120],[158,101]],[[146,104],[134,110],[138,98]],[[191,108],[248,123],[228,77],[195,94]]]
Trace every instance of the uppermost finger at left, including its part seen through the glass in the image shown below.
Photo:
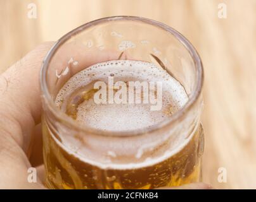
[[[41,121],[39,72],[42,59],[52,45],[53,42],[39,45],[0,76],[0,112],[2,116],[18,126],[11,128],[11,134],[25,151],[29,148],[30,134],[35,124]],[[80,44],[63,45],[51,62],[54,68],[51,68],[49,74],[54,76],[51,76],[52,81],[49,81],[49,85],[56,84],[56,72],[61,73],[67,67],[70,59],[78,62],[73,69],[80,71],[97,62],[117,59],[119,55],[120,52],[109,50],[87,50],[84,45]],[[69,71],[69,73],[74,74],[75,72]],[[67,76],[70,75],[66,75],[66,78],[68,78]],[[62,85],[62,83],[58,82],[58,85]],[[3,121],[0,121],[1,125],[4,125]],[[10,133],[9,128],[5,128],[5,130]]]

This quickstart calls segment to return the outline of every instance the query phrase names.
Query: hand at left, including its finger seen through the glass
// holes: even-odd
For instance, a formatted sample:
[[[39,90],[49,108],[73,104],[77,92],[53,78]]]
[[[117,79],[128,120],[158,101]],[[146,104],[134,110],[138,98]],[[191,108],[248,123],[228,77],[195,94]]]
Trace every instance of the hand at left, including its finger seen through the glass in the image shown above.
[[[52,45],[52,42],[39,45],[0,75],[1,188],[42,188],[40,181],[30,184],[27,179],[31,167],[27,153],[31,148],[34,126],[41,119],[39,71],[42,59]],[[56,68],[65,68],[70,57],[79,61],[79,68],[85,68],[96,62],[117,59],[120,54],[86,51],[74,44],[66,47],[59,52],[61,54],[58,57],[54,57]]]

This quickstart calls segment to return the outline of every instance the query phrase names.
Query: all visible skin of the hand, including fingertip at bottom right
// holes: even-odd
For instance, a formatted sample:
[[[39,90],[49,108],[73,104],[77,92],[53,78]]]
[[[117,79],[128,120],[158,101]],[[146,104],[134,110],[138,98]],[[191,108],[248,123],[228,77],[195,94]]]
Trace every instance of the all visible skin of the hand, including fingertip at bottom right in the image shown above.
[[[29,52],[0,75],[0,189],[45,189],[43,185],[41,135],[41,90],[39,72],[44,56],[54,42],[46,42]],[[60,56],[66,56],[68,47]],[[98,53],[98,52],[97,52]],[[81,56],[76,56],[81,57]],[[105,60],[113,55],[103,53]],[[98,54],[84,55],[81,68],[98,62]],[[117,56],[115,56],[117,58]],[[28,169],[37,168],[37,182],[28,182]],[[204,183],[176,189],[210,189]],[[168,188],[169,189],[169,188]]]

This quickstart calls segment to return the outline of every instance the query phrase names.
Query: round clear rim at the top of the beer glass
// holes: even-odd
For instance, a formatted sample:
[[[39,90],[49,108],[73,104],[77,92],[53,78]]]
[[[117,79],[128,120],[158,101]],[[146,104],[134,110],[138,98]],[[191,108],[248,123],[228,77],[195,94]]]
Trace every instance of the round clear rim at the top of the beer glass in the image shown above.
[[[141,128],[141,129],[134,129],[129,131],[104,131],[101,129],[95,129],[89,126],[85,126],[84,124],[80,124],[79,122],[72,119],[72,117],[69,117],[67,114],[65,114],[60,109],[58,109],[58,107],[54,104],[48,90],[48,86],[46,82],[46,74],[48,71],[49,63],[51,62],[51,59],[54,56],[55,52],[58,50],[58,48],[61,47],[61,45],[64,44],[72,36],[82,32],[83,30],[86,30],[87,28],[90,28],[95,25],[99,25],[101,23],[105,23],[107,21],[118,21],[118,20],[141,21],[143,23],[150,24],[158,28],[162,28],[163,30],[169,32],[174,37],[176,37],[176,39],[183,45],[183,47],[185,47],[186,50],[188,50],[196,68],[196,75],[197,75],[196,88],[191,92],[192,96],[188,98],[188,102],[186,102],[186,104],[182,106],[181,109],[177,110],[177,112],[175,112],[172,116],[170,116],[169,119],[165,119],[164,121],[159,122],[158,124],[154,124],[150,128]],[[78,129],[79,131],[82,131],[84,133],[97,134],[101,136],[115,136],[115,137],[126,136],[127,137],[127,136],[135,136],[135,135],[145,134],[145,133],[152,133],[153,131],[157,131],[158,129],[162,129],[162,128],[165,128],[166,126],[170,126],[174,124],[174,122],[176,122],[177,120],[184,117],[186,115],[186,112],[188,112],[189,109],[191,109],[191,107],[193,107],[193,105],[196,103],[196,101],[200,97],[200,93],[202,92],[203,64],[195,47],[193,47],[193,45],[188,41],[188,39],[186,39],[181,33],[179,33],[174,28],[169,27],[168,25],[165,25],[163,23],[160,23],[159,21],[138,17],[138,16],[110,16],[110,17],[100,18],[98,20],[85,23],[84,25],[81,25],[80,27],[75,28],[74,30],[68,32],[67,34],[63,35],[63,37],[61,37],[59,40],[57,40],[53,45],[53,47],[51,47],[49,52],[44,57],[44,60],[42,61],[40,77],[41,77],[40,82],[41,82],[42,99],[46,101],[46,104],[48,104],[49,110],[53,113],[53,115],[56,116],[61,121],[63,121],[63,124],[68,125],[72,128]]]

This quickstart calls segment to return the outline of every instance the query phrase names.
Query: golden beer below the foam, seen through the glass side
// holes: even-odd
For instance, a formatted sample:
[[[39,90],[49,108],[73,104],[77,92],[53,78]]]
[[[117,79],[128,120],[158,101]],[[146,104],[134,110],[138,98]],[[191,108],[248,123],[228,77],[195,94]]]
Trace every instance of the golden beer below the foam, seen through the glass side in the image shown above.
[[[44,126],[46,186],[51,189],[153,189],[200,181],[202,129],[173,157],[140,169],[101,169],[63,150]]]

